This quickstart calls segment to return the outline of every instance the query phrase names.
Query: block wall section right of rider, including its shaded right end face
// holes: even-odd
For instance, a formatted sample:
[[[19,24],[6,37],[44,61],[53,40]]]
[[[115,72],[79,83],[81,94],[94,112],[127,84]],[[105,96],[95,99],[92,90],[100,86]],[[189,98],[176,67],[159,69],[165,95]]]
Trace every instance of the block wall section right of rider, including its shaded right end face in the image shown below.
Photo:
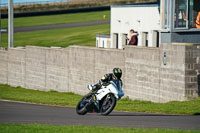
[[[160,48],[127,46],[126,94],[131,99],[154,102],[198,97],[199,53],[199,45],[162,44]]]

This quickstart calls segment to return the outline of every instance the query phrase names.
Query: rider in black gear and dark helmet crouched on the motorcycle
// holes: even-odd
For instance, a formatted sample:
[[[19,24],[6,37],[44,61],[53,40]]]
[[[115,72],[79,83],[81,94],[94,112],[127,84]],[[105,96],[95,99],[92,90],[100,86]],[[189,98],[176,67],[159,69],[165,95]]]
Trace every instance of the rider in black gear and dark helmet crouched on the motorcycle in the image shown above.
[[[113,73],[108,73],[104,75],[100,80],[99,83],[92,86],[92,91],[96,91],[101,89],[102,85],[107,86],[109,85],[110,81],[112,80],[120,80],[121,81],[122,70],[120,68],[114,68]]]

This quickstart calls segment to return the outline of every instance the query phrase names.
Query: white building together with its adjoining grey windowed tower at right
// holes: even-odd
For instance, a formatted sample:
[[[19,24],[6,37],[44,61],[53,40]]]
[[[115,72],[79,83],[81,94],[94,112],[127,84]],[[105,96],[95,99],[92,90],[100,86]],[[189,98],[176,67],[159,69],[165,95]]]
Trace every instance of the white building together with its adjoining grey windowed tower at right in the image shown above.
[[[104,47],[123,49],[131,29],[138,33],[138,46],[199,43],[200,28],[195,26],[199,4],[200,0],[158,0],[156,3],[111,6],[111,43]]]

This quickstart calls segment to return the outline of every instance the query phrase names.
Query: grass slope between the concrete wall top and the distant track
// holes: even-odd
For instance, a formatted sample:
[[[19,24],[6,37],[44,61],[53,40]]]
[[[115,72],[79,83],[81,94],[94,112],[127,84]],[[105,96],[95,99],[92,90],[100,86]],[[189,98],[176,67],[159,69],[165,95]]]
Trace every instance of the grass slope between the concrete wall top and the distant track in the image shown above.
[[[17,46],[59,46],[69,45],[95,46],[96,34],[109,34],[110,25],[86,26],[55,30],[21,32],[14,35],[14,47]],[[8,46],[8,35],[2,34],[2,47]]]

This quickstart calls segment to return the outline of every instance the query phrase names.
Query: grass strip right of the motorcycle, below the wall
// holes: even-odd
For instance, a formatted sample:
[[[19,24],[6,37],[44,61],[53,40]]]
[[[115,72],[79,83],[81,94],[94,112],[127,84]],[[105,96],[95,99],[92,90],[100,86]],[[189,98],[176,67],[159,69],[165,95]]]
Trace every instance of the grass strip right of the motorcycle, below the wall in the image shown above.
[[[132,101],[125,98],[117,103],[119,111],[149,112],[161,114],[189,114],[200,115],[200,97],[184,102],[153,103],[149,101]]]

